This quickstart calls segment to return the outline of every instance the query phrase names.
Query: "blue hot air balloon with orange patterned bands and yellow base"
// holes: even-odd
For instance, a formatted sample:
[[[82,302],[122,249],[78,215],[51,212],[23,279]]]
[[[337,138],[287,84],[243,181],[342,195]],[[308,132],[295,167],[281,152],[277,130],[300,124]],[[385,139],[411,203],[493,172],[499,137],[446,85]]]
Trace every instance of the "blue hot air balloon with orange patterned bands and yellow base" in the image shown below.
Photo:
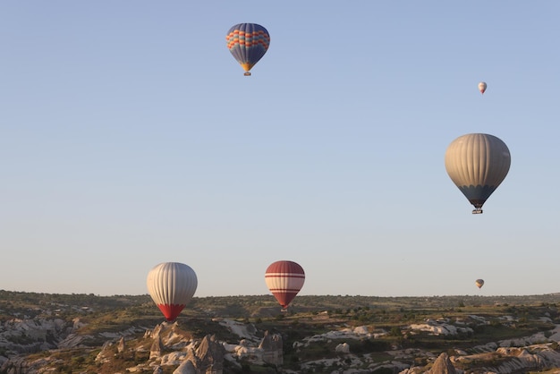
[[[270,35],[257,23],[239,23],[227,31],[225,41],[235,60],[245,70],[245,75],[250,75],[250,69],[267,52]]]

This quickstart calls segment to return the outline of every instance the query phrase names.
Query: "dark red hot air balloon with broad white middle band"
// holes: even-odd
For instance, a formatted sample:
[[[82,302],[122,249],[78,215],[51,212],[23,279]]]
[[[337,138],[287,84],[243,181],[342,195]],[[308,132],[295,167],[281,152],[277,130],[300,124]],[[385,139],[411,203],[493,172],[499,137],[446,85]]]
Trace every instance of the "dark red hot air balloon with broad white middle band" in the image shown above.
[[[265,273],[265,282],[276,300],[286,309],[305,282],[305,272],[293,261],[276,261]]]

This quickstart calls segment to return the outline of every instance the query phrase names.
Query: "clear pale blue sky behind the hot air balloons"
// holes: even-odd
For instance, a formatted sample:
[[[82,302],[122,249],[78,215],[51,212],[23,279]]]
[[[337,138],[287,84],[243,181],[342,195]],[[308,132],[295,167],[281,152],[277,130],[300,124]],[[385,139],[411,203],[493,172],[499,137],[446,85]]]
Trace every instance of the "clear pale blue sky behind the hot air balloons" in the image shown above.
[[[0,3],[0,289],[560,292],[560,2]],[[270,32],[244,77],[233,24]],[[479,81],[488,82],[480,95]],[[471,215],[449,143],[504,140]],[[486,285],[474,285],[483,278]]]

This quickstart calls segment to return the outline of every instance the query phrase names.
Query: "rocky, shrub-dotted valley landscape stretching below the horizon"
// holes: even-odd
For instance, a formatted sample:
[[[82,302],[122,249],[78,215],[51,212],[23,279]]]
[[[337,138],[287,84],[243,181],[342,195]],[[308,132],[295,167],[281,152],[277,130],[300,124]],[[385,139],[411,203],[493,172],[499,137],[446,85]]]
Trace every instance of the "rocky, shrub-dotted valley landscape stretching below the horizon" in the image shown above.
[[[0,291],[0,373],[560,373],[560,295],[201,298]]]

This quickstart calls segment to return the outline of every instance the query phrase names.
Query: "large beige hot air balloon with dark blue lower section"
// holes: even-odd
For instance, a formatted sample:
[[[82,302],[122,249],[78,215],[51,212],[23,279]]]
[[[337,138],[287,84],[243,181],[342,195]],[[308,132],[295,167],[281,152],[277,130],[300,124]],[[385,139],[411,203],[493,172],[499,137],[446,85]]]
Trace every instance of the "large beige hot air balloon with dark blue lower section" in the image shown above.
[[[445,169],[451,180],[482,213],[482,205],[505,179],[511,156],[504,141],[493,135],[471,133],[453,140],[445,151]]]

